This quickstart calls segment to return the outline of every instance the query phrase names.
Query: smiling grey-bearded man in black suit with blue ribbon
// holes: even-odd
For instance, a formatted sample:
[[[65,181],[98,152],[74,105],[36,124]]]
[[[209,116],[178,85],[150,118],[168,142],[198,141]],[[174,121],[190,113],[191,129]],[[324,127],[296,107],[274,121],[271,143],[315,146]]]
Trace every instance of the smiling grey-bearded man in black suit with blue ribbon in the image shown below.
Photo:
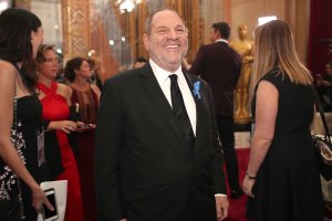
[[[98,220],[222,220],[229,203],[211,93],[181,71],[187,29],[164,9],[147,19],[145,31],[149,62],[107,80],[101,97]]]

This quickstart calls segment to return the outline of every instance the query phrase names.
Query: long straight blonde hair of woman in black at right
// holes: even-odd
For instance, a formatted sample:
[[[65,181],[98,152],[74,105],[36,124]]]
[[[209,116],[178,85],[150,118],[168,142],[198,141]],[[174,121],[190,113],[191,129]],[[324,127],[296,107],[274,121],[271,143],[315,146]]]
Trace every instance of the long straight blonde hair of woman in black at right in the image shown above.
[[[281,20],[270,21],[255,31],[255,82],[276,66],[279,74],[288,75],[295,84],[312,84],[310,71],[297,55],[291,30]]]

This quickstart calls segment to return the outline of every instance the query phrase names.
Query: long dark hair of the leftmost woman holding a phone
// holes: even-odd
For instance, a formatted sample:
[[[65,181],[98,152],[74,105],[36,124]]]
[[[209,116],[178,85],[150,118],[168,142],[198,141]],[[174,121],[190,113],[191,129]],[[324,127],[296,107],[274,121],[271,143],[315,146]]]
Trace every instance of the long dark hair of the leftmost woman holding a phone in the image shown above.
[[[40,28],[40,19],[23,9],[10,8],[0,14],[0,59],[10,63],[23,62],[20,74],[25,86],[34,91],[34,77],[28,73],[32,61],[31,31]]]

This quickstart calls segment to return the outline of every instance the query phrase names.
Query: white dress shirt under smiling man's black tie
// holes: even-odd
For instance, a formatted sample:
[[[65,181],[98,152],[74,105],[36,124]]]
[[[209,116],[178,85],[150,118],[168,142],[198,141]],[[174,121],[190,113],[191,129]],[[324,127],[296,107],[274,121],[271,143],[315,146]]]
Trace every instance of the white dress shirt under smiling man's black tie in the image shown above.
[[[149,59],[149,64],[151,64],[154,75],[156,76],[157,82],[158,82],[162,91],[164,92],[164,95],[167,98],[170,107],[172,107],[172,97],[170,97],[169,75],[170,74],[177,75],[177,84],[183,94],[184,103],[185,103],[187,114],[188,114],[190,123],[191,123],[193,131],[194,131],[194,135],[196,136],[196,120],[197,120],[196,103],[195,103],[193,93],[190,92],[189,85],[185,78],[185,75],[181,71],[181,67],[179,66],[178,70],[176,70],[176,72],[172,73],[172,72],[165,71],[162,67],[159,67],[152,59]]]

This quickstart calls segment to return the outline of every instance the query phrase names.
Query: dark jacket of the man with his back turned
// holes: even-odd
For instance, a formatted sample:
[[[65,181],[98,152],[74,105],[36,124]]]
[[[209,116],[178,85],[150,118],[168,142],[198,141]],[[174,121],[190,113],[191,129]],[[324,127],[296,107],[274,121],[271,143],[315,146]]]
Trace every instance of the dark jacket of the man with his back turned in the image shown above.
[[[225,42],[200,46],[190,73],[200,75],[211,87],[216,114],[234,115],[234,91],[241,73],[241,56]]]

